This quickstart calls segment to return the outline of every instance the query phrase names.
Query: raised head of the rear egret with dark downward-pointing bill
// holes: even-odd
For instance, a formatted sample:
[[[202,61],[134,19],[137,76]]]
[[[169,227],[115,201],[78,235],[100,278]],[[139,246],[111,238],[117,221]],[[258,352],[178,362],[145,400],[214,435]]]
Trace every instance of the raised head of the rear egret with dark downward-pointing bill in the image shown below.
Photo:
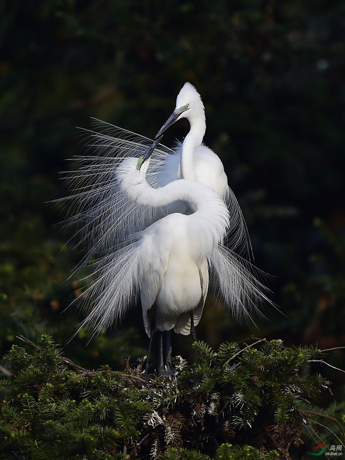
[[[187,81],[178,93],[175,110],[161,127],[156,138],[181,118],[187,118],[191,123],[194,119],[200,117],[205,121],[204,104],[202,104],[201,96],[195,87]]]

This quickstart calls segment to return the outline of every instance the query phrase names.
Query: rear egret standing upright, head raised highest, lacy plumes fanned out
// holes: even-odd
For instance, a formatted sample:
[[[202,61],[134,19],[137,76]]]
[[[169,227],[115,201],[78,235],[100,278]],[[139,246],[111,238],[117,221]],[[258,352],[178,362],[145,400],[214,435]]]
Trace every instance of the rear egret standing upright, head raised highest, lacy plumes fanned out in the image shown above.
[[[182,105],[180,105],[182,104]],[[205,133],[204,106],[199,93],[185,83],[178,94],[176,109],[157,134],[180,118],[190,121],[190,132],[175,151],[163,145],[149,149],[151,156],[147,179],[153,187],[161,187],[178,178],[197,180],[224,198],[230,212],[230,229],[226,246],[237,253],[248,253],[249,237],[236,197],[229,189],[224,167],[218,155],[202,144]],[[133,231],[143,230],[167,213],[188,213],[186,203],[179,201],[169,207],[148,208],[130,202],[118,189],[114,171],[123,158],[145,155],[150,140],[121,128],[97,121],[103,131],[86,131],[95,155],[76,157],[81,163],[79,171],[67,173],[75,190],[69,200],[75,201],[78,212],[71,218],[80,230],[79,242],[88,247],[86,258],[107,253],[109,247],[124,244]],[[115,137],[119,136],[119,137]]]

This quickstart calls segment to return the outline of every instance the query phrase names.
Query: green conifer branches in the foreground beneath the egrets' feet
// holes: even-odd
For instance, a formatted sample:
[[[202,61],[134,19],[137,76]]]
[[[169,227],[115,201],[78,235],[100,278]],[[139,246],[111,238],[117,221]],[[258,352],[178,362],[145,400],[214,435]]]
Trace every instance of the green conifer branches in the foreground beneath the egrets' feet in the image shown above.
[[[306,404],[329,389],[319,374],[300,374],[320,351],[254,340],[217,352],[196,342],[205,360],[175,357],[176,375],[161,378],[145,378],[143,360],[118,372],[78,367],[46,334],[34,354],[13,345],[0,458],[277,460],[279,451],[291,460],[290,450],[301,459],[327,430],[343,446],[344,405],[329,416]]]

